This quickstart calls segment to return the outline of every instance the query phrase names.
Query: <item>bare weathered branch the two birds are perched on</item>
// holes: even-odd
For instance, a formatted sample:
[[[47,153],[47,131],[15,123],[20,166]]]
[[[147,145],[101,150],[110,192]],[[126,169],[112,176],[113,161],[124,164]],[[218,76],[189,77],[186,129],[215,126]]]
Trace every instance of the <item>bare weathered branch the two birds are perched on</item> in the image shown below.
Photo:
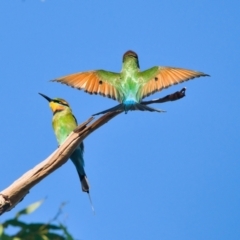
[[[185,96],[185,88],[181,91],[158,98],[151,101],[141,102],[141,104],[162,103],[178,100]],[[29,193],[30,189],[39,183],[50,173],[61,167],[67,162],[77,146],[93,131],[107,123],[109,120],[121,112],[109,112],[98,118],[93,123],[93,117],[80,124],[66,139],[66,141],[55,150],[48,158],[39,163],[33,169],[26,172],[23,176],[13,182],[8,188],[0,192],[0,215],[10,211]],[[91,123],[91,124],[90,124]]]

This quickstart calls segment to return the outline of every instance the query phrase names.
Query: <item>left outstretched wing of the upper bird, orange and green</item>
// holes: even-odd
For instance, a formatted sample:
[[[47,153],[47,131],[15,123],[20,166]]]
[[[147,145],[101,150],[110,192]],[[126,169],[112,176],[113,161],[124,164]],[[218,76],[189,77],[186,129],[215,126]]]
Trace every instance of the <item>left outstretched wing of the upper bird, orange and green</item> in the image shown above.
[[[51,81],[60,82],[77,89],[82,89],[90,94],[100,94],[119,101],[120,94],[115,87],[119,79],[119,73],[96,70],[74,73]]]

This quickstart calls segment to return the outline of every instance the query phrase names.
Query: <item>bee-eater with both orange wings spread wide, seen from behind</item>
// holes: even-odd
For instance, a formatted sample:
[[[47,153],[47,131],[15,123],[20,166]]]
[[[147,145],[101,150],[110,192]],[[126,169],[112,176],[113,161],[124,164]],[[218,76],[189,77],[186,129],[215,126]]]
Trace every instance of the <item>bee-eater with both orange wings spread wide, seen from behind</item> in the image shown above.
[[[125,113],[128,110],[162,112],[141,104],[142,99],[173,84],[201,76],[209,75],[183,68],[161,66],[141,72],[138,55],[133,51],[127,51],[123,55],[120,73],[95,70],[67,75],[52,81],[83,89],[90,94],[107,96],[120,102],[113,108],[94,114],[98,115],[116,110],[125,111]]]

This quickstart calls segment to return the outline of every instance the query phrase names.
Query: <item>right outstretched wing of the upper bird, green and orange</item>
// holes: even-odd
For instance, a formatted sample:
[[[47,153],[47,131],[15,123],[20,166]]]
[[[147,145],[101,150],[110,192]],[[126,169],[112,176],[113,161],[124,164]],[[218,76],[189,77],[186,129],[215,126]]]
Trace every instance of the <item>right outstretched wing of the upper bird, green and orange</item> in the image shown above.
[[[184,68],[153,67],[139,72],[142,87],[139,89],[138,94],[140,98],[144,98],[171,85],[202,76],[209,75]]]

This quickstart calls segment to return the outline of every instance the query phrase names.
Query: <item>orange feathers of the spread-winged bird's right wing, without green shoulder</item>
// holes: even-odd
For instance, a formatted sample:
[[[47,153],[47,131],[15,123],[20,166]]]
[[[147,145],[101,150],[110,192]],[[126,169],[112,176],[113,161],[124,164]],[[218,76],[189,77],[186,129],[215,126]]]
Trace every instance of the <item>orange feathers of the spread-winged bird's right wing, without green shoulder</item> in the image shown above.
[[[157,75],[149,79],[141,89],[142,98],[157,91],[161,91],[164,88],[168,88],[174,84],[201,76],[209,75],[203,72],[197,72],[183,68],[159,67]]]

